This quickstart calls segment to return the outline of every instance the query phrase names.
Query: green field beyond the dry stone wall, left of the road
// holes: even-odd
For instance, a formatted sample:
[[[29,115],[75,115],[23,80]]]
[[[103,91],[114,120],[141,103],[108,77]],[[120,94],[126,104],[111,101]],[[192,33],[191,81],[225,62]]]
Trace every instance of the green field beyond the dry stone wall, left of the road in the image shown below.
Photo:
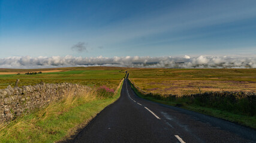
[[[127,68],[128,69],[128,68]],[[26,72],[42,71],[42,74],[26,75]],[[12,73],[12,74],[10,74]],[[20,74],[17,74],[20,73]],[[125,68],[122,67],[67,67],[56,69],[0,69],[0,89],[8,85],[14,86],[16,79],[20,79],[19,86],[35,85],[41,81],[45,83],[80,83],[88,86],[106,85],[116,89]]]

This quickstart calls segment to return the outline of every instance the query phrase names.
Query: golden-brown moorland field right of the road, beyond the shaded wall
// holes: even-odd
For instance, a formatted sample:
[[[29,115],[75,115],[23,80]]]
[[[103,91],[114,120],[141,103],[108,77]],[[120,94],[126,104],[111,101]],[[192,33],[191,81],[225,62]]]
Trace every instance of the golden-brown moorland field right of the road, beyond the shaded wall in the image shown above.
[[[256,92],[256,69],[131,69],[129,78],[153,94]]]

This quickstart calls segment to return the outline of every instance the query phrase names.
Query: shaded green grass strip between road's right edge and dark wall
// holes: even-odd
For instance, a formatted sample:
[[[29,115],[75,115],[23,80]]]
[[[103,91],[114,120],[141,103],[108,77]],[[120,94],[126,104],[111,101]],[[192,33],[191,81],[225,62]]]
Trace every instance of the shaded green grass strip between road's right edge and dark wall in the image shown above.
[[[130,82],[131,83],[131,82]],[[138,91],[134,85],[131,83],[131,88],[133,91],[138,95],[138,97],[144,98],[146,100],[159,102],[161,104],[171,105],[171,106],[177,106],[180,108],[185,108],[187,110],[196,111],[198,113],[207,114],[209,116],[217,117],[219,119],[228,120],[230,122],[238,123],[240,125],[248,126],[249,128],[256,129],[256,116],[246,116],[242,114],[235,114],[230,111],[220,110],[216,108],[211,107],[202,107],[198,104],[189,104],[189,102],[186,99],[178,99],[174,101],[165,101],[165,100],[159,100],[156,97],[153,96],[147,96],[142,94],[140,91]]]

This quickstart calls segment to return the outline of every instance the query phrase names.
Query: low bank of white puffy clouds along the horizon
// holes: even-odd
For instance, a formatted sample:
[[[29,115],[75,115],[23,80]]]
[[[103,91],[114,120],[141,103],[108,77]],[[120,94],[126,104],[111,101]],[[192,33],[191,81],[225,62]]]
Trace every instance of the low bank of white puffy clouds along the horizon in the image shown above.
[[[256,57],[204,56],[189,57],[8,57],[0,58],[0,68],[49,68],[73,66],[118,66],[146,68],[256,68]]]

